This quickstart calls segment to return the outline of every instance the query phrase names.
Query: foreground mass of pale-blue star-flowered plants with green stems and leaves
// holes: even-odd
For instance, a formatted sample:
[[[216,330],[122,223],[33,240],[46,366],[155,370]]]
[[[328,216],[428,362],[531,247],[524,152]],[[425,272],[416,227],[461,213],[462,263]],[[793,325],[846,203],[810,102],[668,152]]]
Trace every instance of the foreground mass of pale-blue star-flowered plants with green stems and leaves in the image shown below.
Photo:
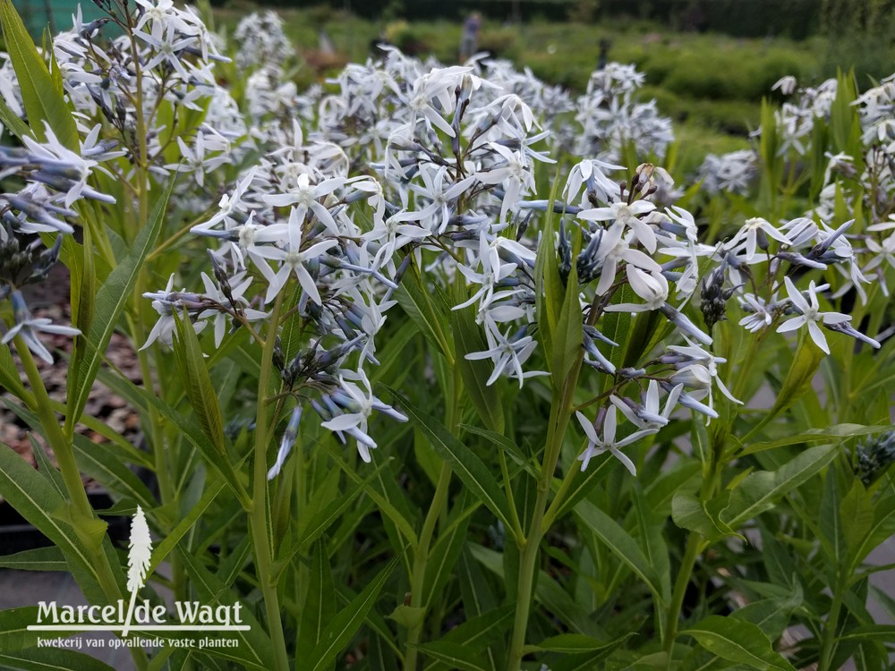
[[[96,4],[38,48],[0,0],[0,495],[51,543],[0,565],[89,604],[0,611],[4,666],[104,668],[37,625],[108,612],[138,669],[890,668],[892,78],[675,174],[631,65],[298,90],[274,13]]]

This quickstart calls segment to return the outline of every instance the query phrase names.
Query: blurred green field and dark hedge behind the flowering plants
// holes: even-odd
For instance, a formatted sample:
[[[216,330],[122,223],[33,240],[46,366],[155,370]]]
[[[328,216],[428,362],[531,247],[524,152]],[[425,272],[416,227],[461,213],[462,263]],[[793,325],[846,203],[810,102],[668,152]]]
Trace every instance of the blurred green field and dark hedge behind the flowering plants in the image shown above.
[[[34,0],[31,0],[34,2]],[[641,98],[676,122],[679,166],[748,147],[761,100],[780,77],[802,85],[854,68],[862,89],[895,63],[891,0],[373,0],[329,3],[213,2],[218,28],[277,9],[309,84],[362,62],[385,39],[405,53],[455,63],[463,19],[483,15],[479,47],[575,92],[587,86],[609,42],[609,60],[646,73]],[[321,42],[321,35],[322,42]],[[329,50],[332,47],[332,50]]]

